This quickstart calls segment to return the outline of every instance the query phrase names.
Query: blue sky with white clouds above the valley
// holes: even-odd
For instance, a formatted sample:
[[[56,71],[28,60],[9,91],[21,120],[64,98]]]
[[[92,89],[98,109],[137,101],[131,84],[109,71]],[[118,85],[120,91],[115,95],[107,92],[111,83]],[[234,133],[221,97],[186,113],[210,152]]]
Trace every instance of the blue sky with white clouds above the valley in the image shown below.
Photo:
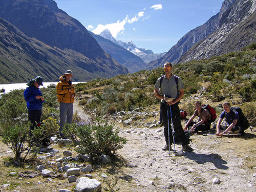
[[[108,28],[116,40],[167,52],[190,30],[216,15],[224,0],[54,0],[95,34]]]

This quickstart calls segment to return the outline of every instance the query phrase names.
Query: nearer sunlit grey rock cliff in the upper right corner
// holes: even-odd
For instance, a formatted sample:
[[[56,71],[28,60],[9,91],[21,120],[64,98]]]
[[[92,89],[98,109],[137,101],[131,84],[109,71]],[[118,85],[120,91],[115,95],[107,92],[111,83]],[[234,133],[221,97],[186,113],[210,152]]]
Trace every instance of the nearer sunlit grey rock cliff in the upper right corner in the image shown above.
[[[239,51],[242,47],[256,42],[255,10],[255,0],[236,1],[222,14],[217,31],[182,55],[179,62]]]

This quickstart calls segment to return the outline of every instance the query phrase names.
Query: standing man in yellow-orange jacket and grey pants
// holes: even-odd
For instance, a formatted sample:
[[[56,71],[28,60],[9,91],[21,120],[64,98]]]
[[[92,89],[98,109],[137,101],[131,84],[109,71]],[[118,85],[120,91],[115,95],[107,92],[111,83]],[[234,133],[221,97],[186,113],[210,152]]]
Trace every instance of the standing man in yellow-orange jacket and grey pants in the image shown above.
[[[73,77],[72,71],[67,70],[65,74],[59,77],[60,81],[57,83],[57,96],[59,101],[59,135],[64,137],[61,133],[63,126],[66,123],[72,123],[73,120],[73,103],[75,101],[75,87],[70,80]]]

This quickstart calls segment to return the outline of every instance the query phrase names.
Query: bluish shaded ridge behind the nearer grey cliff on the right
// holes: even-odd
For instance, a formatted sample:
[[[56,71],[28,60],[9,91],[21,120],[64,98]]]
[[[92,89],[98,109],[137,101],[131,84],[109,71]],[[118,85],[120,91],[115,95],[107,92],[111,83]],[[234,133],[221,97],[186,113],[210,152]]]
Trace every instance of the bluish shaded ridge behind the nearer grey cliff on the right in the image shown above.
[[[212,16],[205,24],[185,34],[163,57],[150,62],[148,69],[162,67],[165,62],[177,63],[186,51],[218,29],[222,15],[236,1],[237,0],[225,0],[218,14]]]

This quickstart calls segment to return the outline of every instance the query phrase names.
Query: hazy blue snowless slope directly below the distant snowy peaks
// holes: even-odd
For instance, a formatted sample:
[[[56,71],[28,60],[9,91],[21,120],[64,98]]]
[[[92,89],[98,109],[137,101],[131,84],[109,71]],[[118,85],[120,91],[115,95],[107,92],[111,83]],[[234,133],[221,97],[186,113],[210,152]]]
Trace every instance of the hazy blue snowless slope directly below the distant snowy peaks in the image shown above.
[[[146,64],[140,57],[136,56],[132,52],[124,49],[109,39],[106,39],[100,35],[96,35],[92,32],[90,33],[97,40],[100,47],[105,52],[111,54],[112,58],[116,59],[117,62],[126,67],[130,73],[146,69]],[[111,37],[113,36],[111,35]]]

